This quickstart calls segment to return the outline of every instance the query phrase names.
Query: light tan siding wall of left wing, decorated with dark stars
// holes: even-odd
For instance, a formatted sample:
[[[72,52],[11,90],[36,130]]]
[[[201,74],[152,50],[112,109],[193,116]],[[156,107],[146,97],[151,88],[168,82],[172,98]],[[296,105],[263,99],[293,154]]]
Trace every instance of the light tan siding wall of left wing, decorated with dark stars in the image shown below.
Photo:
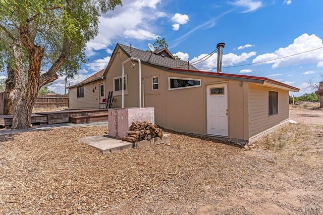
[[[104,80],[87,83],[84,86],[84,97],[77,97],[76,87],[70,88],[70,109],[98,109],[99,108],[99,84]],[[96,89],[94,89],[96,87]],[[94,93],[93,93],[94,89]],[[105,93],[105,96],[107,94]]]

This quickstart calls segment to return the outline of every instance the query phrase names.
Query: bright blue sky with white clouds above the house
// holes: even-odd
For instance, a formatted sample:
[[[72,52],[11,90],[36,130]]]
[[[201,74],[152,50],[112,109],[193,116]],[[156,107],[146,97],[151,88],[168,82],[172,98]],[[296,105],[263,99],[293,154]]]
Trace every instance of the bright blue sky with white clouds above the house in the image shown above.
[[[76,84],[105,68],[118,42],[146,50],[160,36],[172,53],[191,62],[224,42],[223,73],[272,78],[300,88],[295,95],[312,92],[308,81],[320,80],[323,48],[295,54],[323,47],[322,9],[321,0],[123,1],[102,14],[98,35],[87,43],[88,61],[99,60],[68,81]],[[276,58],[282,59],[240,66]],[[214,54],[195,67],[214,71],[216,65]],[[50,89],[64,93],[64,77]]]

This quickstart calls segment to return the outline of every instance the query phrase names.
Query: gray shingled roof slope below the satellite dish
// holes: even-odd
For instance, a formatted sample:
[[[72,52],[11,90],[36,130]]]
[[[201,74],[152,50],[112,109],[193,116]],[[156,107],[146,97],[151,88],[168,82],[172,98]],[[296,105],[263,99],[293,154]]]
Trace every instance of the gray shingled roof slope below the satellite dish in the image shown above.
[[[137,48],[132,47],[130,52],[130,46],[120,44],[120,47],[128,53],[130,57],[138,58],[140,61],[147,62],[150,64],[158,65],[161,67],[166,68],[176,68],[176,69],[183,69],[183,70],[195,70],[198,71],[194,66],[190,65],[188,68],[188,62],[187,61],[181,61],[176,59],[171,59],[163,56],[156,55],[149,51],[140,50]],[[151,55],[151,57],[150,57]],[[150,59],[149,59],[150,58]]]

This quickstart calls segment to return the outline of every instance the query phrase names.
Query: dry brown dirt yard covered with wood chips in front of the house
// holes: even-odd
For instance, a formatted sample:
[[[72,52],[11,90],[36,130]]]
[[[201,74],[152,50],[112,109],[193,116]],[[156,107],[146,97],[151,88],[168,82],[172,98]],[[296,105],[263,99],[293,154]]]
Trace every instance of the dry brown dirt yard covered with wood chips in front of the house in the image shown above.
[[[105,131],[1,136],[0,213],[323,213],[322,125],[290,125],[249,149],[179,133],[107,155],[78,142]]]

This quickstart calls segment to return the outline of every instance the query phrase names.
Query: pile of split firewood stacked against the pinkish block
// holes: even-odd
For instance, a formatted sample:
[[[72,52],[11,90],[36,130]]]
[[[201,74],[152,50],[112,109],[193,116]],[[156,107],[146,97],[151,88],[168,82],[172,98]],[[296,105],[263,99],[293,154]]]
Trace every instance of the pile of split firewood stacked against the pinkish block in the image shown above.
[[[127,136],[122,140],[128,142],[138,142],[141,140],[150,140],[155,137],[163,137],[163,131],[150,122],[133,122],[127,131]]]

